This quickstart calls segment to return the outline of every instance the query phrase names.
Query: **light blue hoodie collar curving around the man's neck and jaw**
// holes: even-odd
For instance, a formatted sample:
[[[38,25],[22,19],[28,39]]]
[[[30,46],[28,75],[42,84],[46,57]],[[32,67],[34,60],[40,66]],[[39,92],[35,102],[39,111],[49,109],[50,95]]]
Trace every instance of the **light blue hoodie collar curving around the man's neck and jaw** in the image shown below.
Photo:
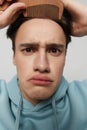
[[[38,105],[34,106],[32,103],[27,101],[26,99],[23,98],[23,108],[28,109],[31,108],[33,111],[37,111],[37,109],[41,109],[44,107],[44,105],[48,105],[52,103],[52,99],[54,98],[55,101],[59,101],[62,97],[64,97],[68,85],[67,81],[65,80],[64,77],[62,77],[61,82],[59,86],[57,87],[57,91],[53,94],[53,96],[45,101],[41,101]],[[7,90],[9,97],[11,101],[16,104],[17,106],[19,105],[20,102],[20,89],[18,87],[18,78],[17,76],[14,76],[13,79],[7,84]]]

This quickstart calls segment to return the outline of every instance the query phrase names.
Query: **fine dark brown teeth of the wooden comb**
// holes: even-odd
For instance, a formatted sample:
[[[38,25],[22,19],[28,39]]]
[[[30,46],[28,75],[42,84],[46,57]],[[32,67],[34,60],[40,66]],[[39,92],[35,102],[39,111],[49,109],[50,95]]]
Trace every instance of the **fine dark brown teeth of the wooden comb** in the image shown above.
[[[31,6],[27,8],[24,16],[32,18],[50,18],[50,19],[58,19],[59,17],[59,9],[54,5],[38,5],[38,6]]]

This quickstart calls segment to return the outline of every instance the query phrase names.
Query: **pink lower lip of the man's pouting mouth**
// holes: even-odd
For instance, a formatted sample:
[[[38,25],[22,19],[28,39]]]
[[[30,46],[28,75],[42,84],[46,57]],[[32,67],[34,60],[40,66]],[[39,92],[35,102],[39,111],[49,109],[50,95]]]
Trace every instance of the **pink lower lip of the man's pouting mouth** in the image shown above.
[[[45,81],[45,80],[30,80],[30,83],[38,86],[49,86],[52,82],[51,81]]]

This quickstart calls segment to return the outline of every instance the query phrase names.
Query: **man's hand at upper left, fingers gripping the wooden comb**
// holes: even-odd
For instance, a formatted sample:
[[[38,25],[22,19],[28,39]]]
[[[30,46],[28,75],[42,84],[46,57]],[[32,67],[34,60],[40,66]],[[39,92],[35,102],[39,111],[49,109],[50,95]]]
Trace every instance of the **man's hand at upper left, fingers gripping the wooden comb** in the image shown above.
[[[7,0],[11,2],[12,0]],[[2,5],[4,0],[0,0],[0,5]],[[0,11],[0,29],[11,24],[21,13],[21,10],[25,9],[24,3],[16,2],[11,4],[5,11]]]

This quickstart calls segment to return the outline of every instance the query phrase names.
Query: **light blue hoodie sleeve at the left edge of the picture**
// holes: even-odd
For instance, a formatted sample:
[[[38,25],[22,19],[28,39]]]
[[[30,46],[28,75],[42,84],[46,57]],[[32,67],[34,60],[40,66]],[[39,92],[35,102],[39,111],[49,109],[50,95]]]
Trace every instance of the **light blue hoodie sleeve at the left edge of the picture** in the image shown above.
[[[6,82],[0,80],[0,130],[13,129],[11,104],[6,86]]]

